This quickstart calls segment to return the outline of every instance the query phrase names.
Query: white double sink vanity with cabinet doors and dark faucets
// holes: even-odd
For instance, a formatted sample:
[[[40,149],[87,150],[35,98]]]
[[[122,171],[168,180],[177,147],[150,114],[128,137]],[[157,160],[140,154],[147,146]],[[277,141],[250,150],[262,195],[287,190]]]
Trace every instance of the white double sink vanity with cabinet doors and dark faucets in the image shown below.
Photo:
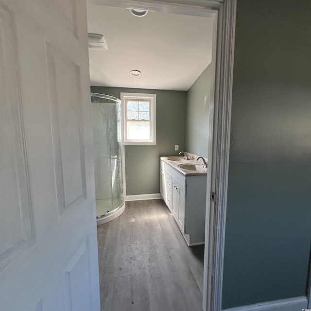
[[[181,156],[160,157],[160,168],[160,193],[187,244],[204,244],[207,168]]]

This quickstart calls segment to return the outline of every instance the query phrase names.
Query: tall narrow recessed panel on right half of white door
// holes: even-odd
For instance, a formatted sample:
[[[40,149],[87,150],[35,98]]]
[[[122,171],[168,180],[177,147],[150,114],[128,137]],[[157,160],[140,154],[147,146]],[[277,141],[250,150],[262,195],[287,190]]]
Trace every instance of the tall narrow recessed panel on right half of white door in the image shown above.
[[[46,42],[54,171],[59,217],[86,200],[80,69]],[[61,74],[60,74],[61,73]],[[58,81],[57,77],[65,77]],[[68,92],[74,89],[75,92]],[[72,109],[73,107],[73,109]],[[68,124],[71,123],[69,131]],[[75,129],[75,131],[72,131]],[[78,148],[77,148],[78,146]],[[71,196],[68,196],[68,193]],[[72,195],[75,193],[75,195]]]

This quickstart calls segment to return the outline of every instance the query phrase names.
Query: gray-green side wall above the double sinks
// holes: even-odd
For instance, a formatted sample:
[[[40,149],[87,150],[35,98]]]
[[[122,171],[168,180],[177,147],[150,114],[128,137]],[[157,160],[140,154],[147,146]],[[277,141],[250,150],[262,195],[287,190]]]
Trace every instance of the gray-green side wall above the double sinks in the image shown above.
[[[211,64],[187,92],[186,151],[207,157]]]

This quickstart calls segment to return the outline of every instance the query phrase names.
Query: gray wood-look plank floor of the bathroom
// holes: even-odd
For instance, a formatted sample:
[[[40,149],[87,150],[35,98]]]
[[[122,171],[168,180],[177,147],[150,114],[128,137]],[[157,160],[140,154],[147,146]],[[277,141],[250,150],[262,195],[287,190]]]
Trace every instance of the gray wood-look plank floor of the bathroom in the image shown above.
[[[163,200],[126,202],[97,228],[102,311],[202,311],[204,245],[186,244]]]

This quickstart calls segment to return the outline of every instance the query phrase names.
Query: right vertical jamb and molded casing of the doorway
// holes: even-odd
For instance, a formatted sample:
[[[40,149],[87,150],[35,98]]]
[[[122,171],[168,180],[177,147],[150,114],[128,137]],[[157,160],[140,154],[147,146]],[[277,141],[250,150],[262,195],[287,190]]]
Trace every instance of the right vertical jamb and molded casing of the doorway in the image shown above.
[[[203,309],[222,310],[225,218],[230,151],[231,100],[235,37],[236,0],[225,0],[219,9],[217,63],[213,133],[208,150],[211,154],[210,191],[216,193],[216,203],[207,200]],[[212,136],[212,137],[211,137]],[[210,161],[209,161],[210,167]],[[211,192],[210,192],[211,193]],[[207,192],[207,195],[209,193]],[[206,232],[207,234],[207,232]]]

